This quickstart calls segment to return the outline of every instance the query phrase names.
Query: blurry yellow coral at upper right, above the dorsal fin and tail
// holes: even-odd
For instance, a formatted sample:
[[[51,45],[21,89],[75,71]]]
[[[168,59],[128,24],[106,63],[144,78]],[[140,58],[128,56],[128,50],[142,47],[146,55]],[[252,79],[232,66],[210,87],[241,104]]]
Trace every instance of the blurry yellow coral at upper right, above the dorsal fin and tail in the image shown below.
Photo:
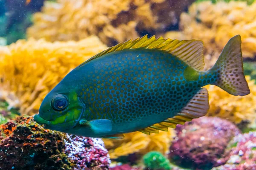
[[[165,37],[198,39],[206,47],[206,68],[215,63],[227,41],[241,35],[243,57],[256,55],[256,3],[204,1],[193,3],[188,13],[180,15],[181,32],[169,32]]]

